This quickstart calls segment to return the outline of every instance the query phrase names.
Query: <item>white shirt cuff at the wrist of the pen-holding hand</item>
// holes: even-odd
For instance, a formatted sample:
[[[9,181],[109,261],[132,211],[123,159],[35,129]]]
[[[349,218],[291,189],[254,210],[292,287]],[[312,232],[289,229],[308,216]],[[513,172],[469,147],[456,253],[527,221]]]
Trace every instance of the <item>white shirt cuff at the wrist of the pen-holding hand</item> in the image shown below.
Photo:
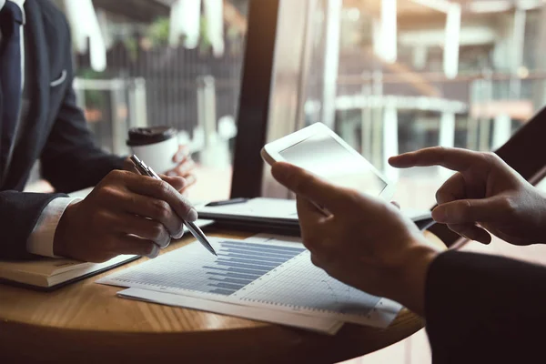
[[[77,197],[57,197],[52,200],[38,217],[30,237],[26,240],[26,251],[37,256],[61,258],[57,257],[53,251],[56,227],[66,207],[81,200],[82,198]]]

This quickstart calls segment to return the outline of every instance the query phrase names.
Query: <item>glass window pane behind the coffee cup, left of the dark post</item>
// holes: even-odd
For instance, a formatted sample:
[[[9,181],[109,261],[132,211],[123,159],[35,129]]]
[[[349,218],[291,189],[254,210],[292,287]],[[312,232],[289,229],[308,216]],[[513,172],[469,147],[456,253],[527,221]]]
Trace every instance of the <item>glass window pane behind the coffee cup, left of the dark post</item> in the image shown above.
[[[66,4],[57,2],[78,44],[88,27]],[[93,46],[76,46],[75,88],[97,143],[128,154],[129,128],[175,127],[196,163],[189,197],[229,197],[248,0],[93,4],[95,14],[86,19],[96,17],[107,66],[96,69]]]

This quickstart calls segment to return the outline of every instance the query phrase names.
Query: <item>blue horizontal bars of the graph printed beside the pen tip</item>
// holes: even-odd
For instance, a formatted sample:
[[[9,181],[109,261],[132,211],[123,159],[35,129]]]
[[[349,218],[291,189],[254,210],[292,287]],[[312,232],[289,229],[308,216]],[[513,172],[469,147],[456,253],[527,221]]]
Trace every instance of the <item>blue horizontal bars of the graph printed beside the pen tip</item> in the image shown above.
[[[231,295],[298,256],[304,248],[224,241],[215,264],[204,266],[208,293]]]

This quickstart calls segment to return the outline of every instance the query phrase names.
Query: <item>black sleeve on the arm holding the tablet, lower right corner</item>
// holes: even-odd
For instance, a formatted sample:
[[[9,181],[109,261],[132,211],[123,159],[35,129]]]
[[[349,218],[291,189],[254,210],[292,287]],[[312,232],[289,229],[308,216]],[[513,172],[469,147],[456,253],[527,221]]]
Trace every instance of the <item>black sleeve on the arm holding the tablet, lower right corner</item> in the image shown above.
[[[441,254],[429,269],[425,314],[434,363],[546,361],[546,268],[541,266],[457,251]]]

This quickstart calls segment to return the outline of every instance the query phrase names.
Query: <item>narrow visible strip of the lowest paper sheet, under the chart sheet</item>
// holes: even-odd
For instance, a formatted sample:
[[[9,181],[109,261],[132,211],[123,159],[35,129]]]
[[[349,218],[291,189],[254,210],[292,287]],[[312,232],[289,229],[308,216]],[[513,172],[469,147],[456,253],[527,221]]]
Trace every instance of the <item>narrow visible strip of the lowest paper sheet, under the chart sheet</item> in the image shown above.
[[[313,318],[291,312],[279,312],[267,308],[241,306],[233,303],[180,296],[172,293],[157,292],[140,288],[128,288],[118,292],[117,294],[123,298],[140,299],[167,306],[193,308],[207,312],[235,316],[243,319],[255,319],[257,321],[277,323],[299,329],[308,329],[329,335],[336,334],[343,326],[343,322],[333,319]]]

